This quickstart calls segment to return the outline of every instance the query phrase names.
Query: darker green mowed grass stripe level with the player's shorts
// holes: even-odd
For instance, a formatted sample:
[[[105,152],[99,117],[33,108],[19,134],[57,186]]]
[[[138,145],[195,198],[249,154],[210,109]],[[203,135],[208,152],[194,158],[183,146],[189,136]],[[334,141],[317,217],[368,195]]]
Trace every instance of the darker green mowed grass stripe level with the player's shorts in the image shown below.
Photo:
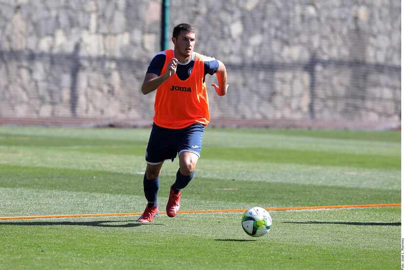
[[[211,134],[210,134],[211,136]],[[208,136],[209,137],[209,136]],[[211,136],[212,137],[212,136]],[[258,143],[261,143],[260,140]],[[344,141],[342,140],[342,144]],[[209,145],[209,140],[207,145]],[[263,144],[263,142],[261,143]],[[302,142],[301,142],[302,144]],[[11,135],[7,133],[0,134],[0,145],[8,146],[34,146],[34,147],[73,147],[75,151],[116,154],[116,155],[136,155],[143,156],[145,152],[145,141],[122,141],[105,139],[86,139],[86,138],[67,138],[52,136],[23,136]],[[290,146],[289,146],[290,147]],[[375,151],[368,154],[350,153],[333,151],[330,149],[308,150],[291,148],[267,148],[263,147],[221,147],[204,146],[203,158],[219,160],[257,160],[263,162],[281,163],[281,164],[304,164],[321,166],[348,166],[362,168],[400,168],[400,155],[378,155]],[[315,147],[315,146],[314,146]],[[364,148],[364,146],[362,146]],[[392,148],[391,145],[389,148]],[[320,149],[322,147],[319,147]],[[343,148],[343,147],[342,147]],[[361,149],[363,149],[361,148]],[[388,147],[387,147],[388,148]],[[355,151],[353,145],[353,150]],[[61,150],[61,149],[60,149]],[[63,149],[66,150],[66,149]],[[347,149],[349,151],[350,149]],[[344,150],[346,151],[346,150]],[[364,152],[364,149],[360,152]],[[394,152],[392,152],[394,153]],[[399,152],[398,152],[399,154]]]

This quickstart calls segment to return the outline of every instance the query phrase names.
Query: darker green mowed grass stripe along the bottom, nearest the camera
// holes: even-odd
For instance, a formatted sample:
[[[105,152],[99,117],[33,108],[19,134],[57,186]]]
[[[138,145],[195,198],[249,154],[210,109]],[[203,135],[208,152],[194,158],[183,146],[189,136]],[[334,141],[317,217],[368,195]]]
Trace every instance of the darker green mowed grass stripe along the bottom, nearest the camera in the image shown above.
[[[88,225],[85,225],[86,223]],[[1,226],[4,232],[13,235],[13,241],[24,243],[18,249],[3,251],[2,256],[6,259],[3,265],[9,269],[22,269],[27,265],[34,269],[54,269],[55,266],[58,269],[103,269],[106,266],[114,266],[114,269],[134,269],[136,264],[142,265],[142,269],[146,270],[242,270],[249,266],[263,267],[263,265],[270,266],[271,269],[334,269],[339,265],[342,269],[370,270],[387,269],[388,264],[393,269],[398,269],[400,266],[400,260],[392,249],[272,243],[263,239],[246,239],[240,236],[222,236],[213,239],[201,235],[187,235],[185,231],[183,235],[169,233],[163,235],[156,232],[141,234],[136,233],[137,230],[142,231],[139,227],[128,222],[98,223],[96,221],[81,223],[82,225],[74,222],[71,224],[73,226],[63,224],[52,226],[50,222],[37,226],[15,225],[14,227],[17,228],[13,229],[13,233],[10,233],[10,229],[6,229],[6,226]],[[97,226],[104,230],[94,229]],[[121,226],[121,231],[111,231],[115,226],[118,228]],[[166,231],[158,225],[143,227],[147,226]],[[226,227],[229,230],[234,229]],[[132,231],[133,235],[128,232],[122,233],[124,229]],[[296,230],[290,233],[295,234]],[[26,237],[27,233],[31,236]],[[71,234],[68,237],[69,242],[64,239],[67,236],[66,233]],[[209,232],[207,234],[210,235]],[[363,236],[363,234],[360,235]],[[10,241],[9,236],[3,239],[6,242]],[[84,239],[91,239],[91,241]],[[258,256],[258,250],[260,250],[260,262],[251,262],[252,258]],[[150,252],[158,256],[152,257]],[[57,260],[52,261],[55,256]],[[15,257],[19,259],[11,265]],[[287,266],[289,267],[286,268]]]

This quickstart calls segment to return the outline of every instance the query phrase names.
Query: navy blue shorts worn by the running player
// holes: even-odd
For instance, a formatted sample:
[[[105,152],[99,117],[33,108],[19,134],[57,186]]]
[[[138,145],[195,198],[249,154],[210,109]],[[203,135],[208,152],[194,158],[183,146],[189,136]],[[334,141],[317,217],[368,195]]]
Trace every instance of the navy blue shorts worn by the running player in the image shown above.
[[[180,129],[152,126],[145,160],[157,165],[166,159],[174,160],[181,152],[192,152],[200,157],[204,125],[193,124]]]

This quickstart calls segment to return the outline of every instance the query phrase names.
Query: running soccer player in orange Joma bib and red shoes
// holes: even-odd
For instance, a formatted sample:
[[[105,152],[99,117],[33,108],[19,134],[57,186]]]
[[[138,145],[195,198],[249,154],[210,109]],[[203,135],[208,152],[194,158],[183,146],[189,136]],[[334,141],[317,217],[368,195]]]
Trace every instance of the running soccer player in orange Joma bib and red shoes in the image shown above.
[[[164,160],[172,162],[179,155],[176,181],[170,188],[166,213],[176,216],[180,209],[180,190],[193,179],[201,153],[204,127],[210,115],[205,75],[217,74],[218,85],[211,84],[218,95],[228,88],[223,62],[194,52],[195,30],[187,23],[174,27],[174,50],[155,55],[142,83],[144,95],[157,89],[155,115],[146,147],[146,170],[143,191],[147,206],[138,222],[151,222],[158,213],[159,175]]]

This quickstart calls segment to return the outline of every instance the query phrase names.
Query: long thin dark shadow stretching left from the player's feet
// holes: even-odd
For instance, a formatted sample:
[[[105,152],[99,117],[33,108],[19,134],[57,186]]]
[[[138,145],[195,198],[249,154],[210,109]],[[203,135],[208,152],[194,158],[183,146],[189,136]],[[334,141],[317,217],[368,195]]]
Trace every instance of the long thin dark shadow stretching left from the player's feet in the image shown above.
[[[106,228],[131,228],[144,225],[163,225],[159,223],[137,223],[136,221],[127,224],[111,224],[111,223],[122,223],[128,221],[119,220],[104,220],[104,221],[84,221],[84,222],[73,222],[73,221],[56,221],[56,222],[44,222],[44,221],[34,221],[34,222],[0,222],[2,225],[18,225],[18,226],[55,226],[55,225],[67,225],[67,226],[92,226],[92,227],[106,227]]]

